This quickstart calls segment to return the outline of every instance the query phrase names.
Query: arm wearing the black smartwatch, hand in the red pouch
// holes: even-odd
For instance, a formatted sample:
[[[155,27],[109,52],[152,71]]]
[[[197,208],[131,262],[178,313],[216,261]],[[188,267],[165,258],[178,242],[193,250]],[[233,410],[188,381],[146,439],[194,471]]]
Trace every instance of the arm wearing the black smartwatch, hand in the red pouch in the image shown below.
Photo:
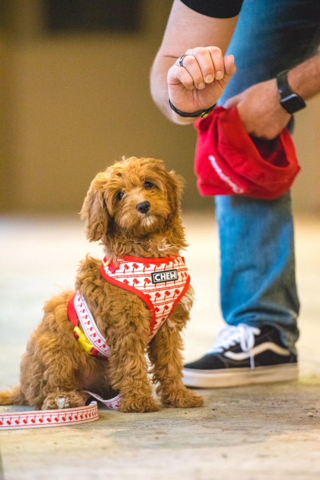
[[[307,100],[320,93],[320,53],[288,72],[291,90]],[[260,82],[233,96],[226,108],[237,106],[250,135],[272,140],[286,127],[290,114],[280,105],[276,79]]]

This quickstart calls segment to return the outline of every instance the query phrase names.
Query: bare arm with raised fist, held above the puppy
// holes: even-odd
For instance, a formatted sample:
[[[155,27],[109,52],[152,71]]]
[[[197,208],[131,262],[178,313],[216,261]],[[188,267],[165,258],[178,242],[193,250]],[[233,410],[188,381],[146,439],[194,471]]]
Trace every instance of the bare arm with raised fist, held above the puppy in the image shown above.
[[[174,113],[168,104],[168,96],[176,108],[192,113],[206,110],[222,95],[235,72],[232,55],[224,60],[223,55],[236,22],[237,16],[209,17],[192,10],[180,0],[174,1],[151,70],[151,95],[168,119],[176,123],[192,123],[196,120]],[[186,52],[190,56],[184,58],[183,65],[186,68],[183,68],[179,66],[179,58]],[[219,75],[218,71],[222,74]],[[215,78],[207,79],[205,87],[199,88],[204,77],[210,74]]]

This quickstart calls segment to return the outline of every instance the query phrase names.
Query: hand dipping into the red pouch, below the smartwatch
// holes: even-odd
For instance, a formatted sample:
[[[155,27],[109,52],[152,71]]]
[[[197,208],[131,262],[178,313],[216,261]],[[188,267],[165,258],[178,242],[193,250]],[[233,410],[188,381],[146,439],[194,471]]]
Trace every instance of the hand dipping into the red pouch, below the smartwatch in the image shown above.
[[[267,80],[229,98],[225,108],[236,105],[240,118],[250,135],[273,140],[285,128],[290,114],[281,107],[276,80]]]

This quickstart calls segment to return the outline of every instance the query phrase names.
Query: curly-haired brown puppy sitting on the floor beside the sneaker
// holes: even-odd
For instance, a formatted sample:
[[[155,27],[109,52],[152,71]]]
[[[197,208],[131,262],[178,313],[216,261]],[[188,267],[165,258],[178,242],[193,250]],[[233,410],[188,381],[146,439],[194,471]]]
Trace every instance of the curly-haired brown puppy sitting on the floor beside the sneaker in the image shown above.
[[[98,173],[91,183],[81,211],[87,237],[101,240],[114,264],[124,255],[150,259],[178,255],[186,246],[181,193],[182,179],[167,172],[162,161],[123,158]],[[141,202],[150,203],[146,213],[136,209]],[[46,302],[44,318],[31,335],[21,362],[21,385],[0,392],[0,405],[79,407],[84,405],[80,392],[90,389],[105,398],[119,391],[120,411],[156,411],[147,375],[147,351],[163,405],[202,406],[203,398],[182,383],[181,331],[189,319],[193,289],[187,289],[148,344],[149,309],[134,293],[106,282],[100,264],[91,257],[82,261],[75,286],[110,346],[109,360],[89,355],[76,341],[67,312],[74,292],[64,291]]]

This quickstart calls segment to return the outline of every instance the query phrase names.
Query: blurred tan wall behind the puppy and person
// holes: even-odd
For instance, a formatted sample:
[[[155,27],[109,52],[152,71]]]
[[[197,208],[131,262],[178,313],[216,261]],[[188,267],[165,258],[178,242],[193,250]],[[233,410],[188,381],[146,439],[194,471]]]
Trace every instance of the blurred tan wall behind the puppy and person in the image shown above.
[[[95,173],[122,155],[162,158],[187,181],[183,208],[212,208],[196,189],[193,127],[164,119],[149,91],[172,0],[137,0],[134,28],[129,18],[122,31],[82,33],[50,25],[48,1],[1,3],[1,211],[76,213]],[[296,115],[299,211],[320,211],[319,134],[317,97]]]

